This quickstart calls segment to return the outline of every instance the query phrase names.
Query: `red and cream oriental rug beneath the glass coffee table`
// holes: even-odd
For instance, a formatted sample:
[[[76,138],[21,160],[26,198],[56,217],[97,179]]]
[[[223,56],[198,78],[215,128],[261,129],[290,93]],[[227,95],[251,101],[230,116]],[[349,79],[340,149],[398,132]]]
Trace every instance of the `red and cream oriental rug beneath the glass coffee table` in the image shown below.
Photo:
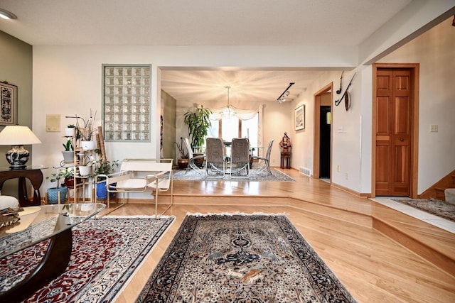
[[[73,228],[70,263],[60,277],[25,302],[111,302],[175,217],[104,216]],[[0,292],[39,263],[49,241],[0,260]]]

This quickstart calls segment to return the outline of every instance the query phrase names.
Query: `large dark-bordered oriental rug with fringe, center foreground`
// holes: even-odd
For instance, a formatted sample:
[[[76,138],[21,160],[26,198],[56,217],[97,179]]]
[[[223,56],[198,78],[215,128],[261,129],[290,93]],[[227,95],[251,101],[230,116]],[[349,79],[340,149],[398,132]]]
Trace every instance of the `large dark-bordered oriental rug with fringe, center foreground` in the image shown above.
[[[187,215],[137,302],[355,302],[285,215]]]

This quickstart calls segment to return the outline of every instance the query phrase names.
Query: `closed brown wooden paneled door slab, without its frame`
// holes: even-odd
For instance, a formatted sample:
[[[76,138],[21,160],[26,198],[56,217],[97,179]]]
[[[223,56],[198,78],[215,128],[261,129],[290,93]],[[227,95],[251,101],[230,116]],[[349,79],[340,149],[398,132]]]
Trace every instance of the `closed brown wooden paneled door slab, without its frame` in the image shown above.
[[[412,79],[407,69],[380,69],[376,76],[377,196],[409,196]]]

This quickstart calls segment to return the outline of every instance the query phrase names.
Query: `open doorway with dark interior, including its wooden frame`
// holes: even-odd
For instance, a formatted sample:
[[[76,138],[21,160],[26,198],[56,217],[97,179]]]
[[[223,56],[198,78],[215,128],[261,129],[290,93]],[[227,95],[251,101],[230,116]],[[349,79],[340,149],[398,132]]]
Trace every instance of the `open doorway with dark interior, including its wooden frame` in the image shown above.
[[[314,94],[313,177],[331,182],[333,83]]]

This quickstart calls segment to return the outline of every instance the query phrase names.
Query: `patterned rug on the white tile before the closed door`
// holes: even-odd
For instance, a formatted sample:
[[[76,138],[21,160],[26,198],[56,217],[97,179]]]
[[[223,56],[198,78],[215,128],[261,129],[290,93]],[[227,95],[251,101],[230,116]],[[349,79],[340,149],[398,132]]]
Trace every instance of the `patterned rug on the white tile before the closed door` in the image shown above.
[[[392,200],[455,222],[455,204],[446,203],[438,199],[393,198]]]

